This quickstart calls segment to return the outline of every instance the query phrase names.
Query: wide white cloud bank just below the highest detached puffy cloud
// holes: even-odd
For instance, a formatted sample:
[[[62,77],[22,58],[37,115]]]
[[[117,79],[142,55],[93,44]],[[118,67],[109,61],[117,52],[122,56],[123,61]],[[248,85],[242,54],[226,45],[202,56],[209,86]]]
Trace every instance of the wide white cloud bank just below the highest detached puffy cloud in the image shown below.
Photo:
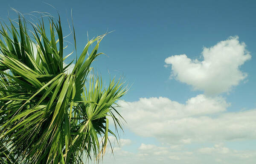
[[[221,97],[198,95],[186,104],[152,97],[119,104],[131,131],[165,143],[256,138],[256,110],[227,112],[229,104]]]

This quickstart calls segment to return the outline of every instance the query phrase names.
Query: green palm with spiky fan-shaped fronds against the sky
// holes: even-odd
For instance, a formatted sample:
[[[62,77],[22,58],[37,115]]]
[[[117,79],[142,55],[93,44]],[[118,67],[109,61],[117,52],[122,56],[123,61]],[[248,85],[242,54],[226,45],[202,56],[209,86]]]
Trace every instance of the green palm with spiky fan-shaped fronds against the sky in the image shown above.
[[[106,34],[88,41],[74,68],[67,71],[72,62],[64,66],[69,55],[63,57],[60,17],[47,18],[49,36],[44,19],[28,23],[19,16],[17,22],[10,20],[9,26],[1,24],[0,163],[80,164],[83,157],[99,160],[109,133],[116,136],[109,129],[109,118],[115,130],[121,127],[118,118],[122,116],[115,102],[127,87],[113,79],[104,88],[101,77],[88,76],[91,63],[102,54],[97,50]],[[74,31],[73,38],[76,49]]]

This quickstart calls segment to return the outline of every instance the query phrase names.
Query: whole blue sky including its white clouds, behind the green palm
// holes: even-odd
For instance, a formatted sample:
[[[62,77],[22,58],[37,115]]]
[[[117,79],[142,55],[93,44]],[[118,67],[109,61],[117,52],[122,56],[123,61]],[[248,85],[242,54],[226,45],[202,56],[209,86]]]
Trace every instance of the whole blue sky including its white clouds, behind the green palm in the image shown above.
[[[78,54],[87,31],[89,38],[113,31],[99,48],[108,57],[100,56],[93,68],[106,82],[122,76],[131,89],[123,97],[128,103],[120,102],[128,122],[123,145],[104,164],[256,160],[253,0],[9,0],[0,18],[15,18],[11,7],[57,16],[46,3],[61,15],[65,34],[73,9]]]

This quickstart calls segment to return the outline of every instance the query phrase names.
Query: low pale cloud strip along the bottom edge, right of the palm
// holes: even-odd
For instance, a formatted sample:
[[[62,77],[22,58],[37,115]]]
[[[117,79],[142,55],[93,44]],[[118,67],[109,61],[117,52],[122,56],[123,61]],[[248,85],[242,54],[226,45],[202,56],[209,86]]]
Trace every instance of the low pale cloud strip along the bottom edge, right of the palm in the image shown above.
[[[119,149],[114,156],[109,155],[104,157],[104,164],[252,164],[256,160],[256,151],[233,150],[222,143],[199,149],[183,146],[180,150],[141,143],[137,151]]]

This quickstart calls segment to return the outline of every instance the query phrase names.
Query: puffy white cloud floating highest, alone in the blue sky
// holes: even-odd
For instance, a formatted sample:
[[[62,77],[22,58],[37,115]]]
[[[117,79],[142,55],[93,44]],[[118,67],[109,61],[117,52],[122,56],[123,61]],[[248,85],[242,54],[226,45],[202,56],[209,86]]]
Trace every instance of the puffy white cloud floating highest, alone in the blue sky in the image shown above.
[[[165,62],[172,65],[175,79],[213,95],[228,92],[246,78],[247,74],[239,70],[251,58],[245,47],[238,37],[230,37],[210,48],[204,47],[203,61],[182,54],[168,57]]]

